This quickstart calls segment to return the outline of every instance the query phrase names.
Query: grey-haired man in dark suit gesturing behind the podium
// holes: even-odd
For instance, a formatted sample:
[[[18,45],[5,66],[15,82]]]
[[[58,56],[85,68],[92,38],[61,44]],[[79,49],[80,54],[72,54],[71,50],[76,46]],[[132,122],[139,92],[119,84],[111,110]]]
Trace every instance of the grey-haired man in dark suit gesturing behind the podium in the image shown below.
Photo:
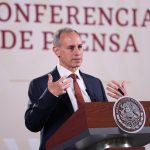
[[[59,64],[49,74],[32,80],[25,113],[26,127],[33,132],[41,131],[40,150],[45,149],[47,139],[84,102],[107,101],[102,82],[79,70],[83,60],[83,46],[77,31],[63,28],[56,32],[53,51]],[[75,85],[80,92],[76,92]],[[108,84],[109,95],[114,98],[122,96],[118,88],[124,91],[123,86],[115,81]],[[81,99],[82,102],[79,102]]]

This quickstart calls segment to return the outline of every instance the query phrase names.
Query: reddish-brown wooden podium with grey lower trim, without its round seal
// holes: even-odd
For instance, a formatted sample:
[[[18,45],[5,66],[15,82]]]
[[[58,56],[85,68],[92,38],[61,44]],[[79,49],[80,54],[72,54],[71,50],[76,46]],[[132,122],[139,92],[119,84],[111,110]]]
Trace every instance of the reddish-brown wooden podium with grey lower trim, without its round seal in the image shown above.
[[[121,131],[113,119],[114,102],[85,103],[48,139],[46,150],[144,150],[150,143],[150,102],[142,101],[145,126]]]

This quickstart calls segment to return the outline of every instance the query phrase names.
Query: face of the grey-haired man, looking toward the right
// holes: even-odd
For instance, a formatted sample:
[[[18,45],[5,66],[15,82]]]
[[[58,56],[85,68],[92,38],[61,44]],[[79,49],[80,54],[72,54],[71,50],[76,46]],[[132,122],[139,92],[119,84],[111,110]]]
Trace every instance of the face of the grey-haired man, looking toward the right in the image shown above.
[[[81,66],[83,59],[83,46],[80,36],[75,32],[62,33],[60,46],[54,48],[59,57],[60,65],[74,72]]]

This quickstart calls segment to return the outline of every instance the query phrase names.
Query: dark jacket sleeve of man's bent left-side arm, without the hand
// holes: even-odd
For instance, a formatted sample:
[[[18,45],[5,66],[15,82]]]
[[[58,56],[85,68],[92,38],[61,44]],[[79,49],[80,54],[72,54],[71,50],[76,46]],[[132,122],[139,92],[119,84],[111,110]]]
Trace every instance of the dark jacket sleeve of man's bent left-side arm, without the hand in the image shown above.
[[[25,125],[32,132],[40,131],[52,113],[58,98],[46,88],[41,92],[40,85],[32,81],[29,86],[29,103],[25,112]]]

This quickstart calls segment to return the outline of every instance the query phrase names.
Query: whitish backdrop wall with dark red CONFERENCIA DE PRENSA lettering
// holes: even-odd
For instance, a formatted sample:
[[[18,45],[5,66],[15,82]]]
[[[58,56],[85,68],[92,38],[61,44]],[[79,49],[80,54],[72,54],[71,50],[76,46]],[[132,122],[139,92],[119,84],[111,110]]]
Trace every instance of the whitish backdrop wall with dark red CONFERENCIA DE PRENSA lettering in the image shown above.
[[[130,96],[150,100],[149,6],[146,0],[0,0],[0,149],[38,149],[39,133],[24,126],[28,85],[57,64],[51,40],[61,27],[76,29],[86,43],[82,71],[104,86],[125,80]]]

